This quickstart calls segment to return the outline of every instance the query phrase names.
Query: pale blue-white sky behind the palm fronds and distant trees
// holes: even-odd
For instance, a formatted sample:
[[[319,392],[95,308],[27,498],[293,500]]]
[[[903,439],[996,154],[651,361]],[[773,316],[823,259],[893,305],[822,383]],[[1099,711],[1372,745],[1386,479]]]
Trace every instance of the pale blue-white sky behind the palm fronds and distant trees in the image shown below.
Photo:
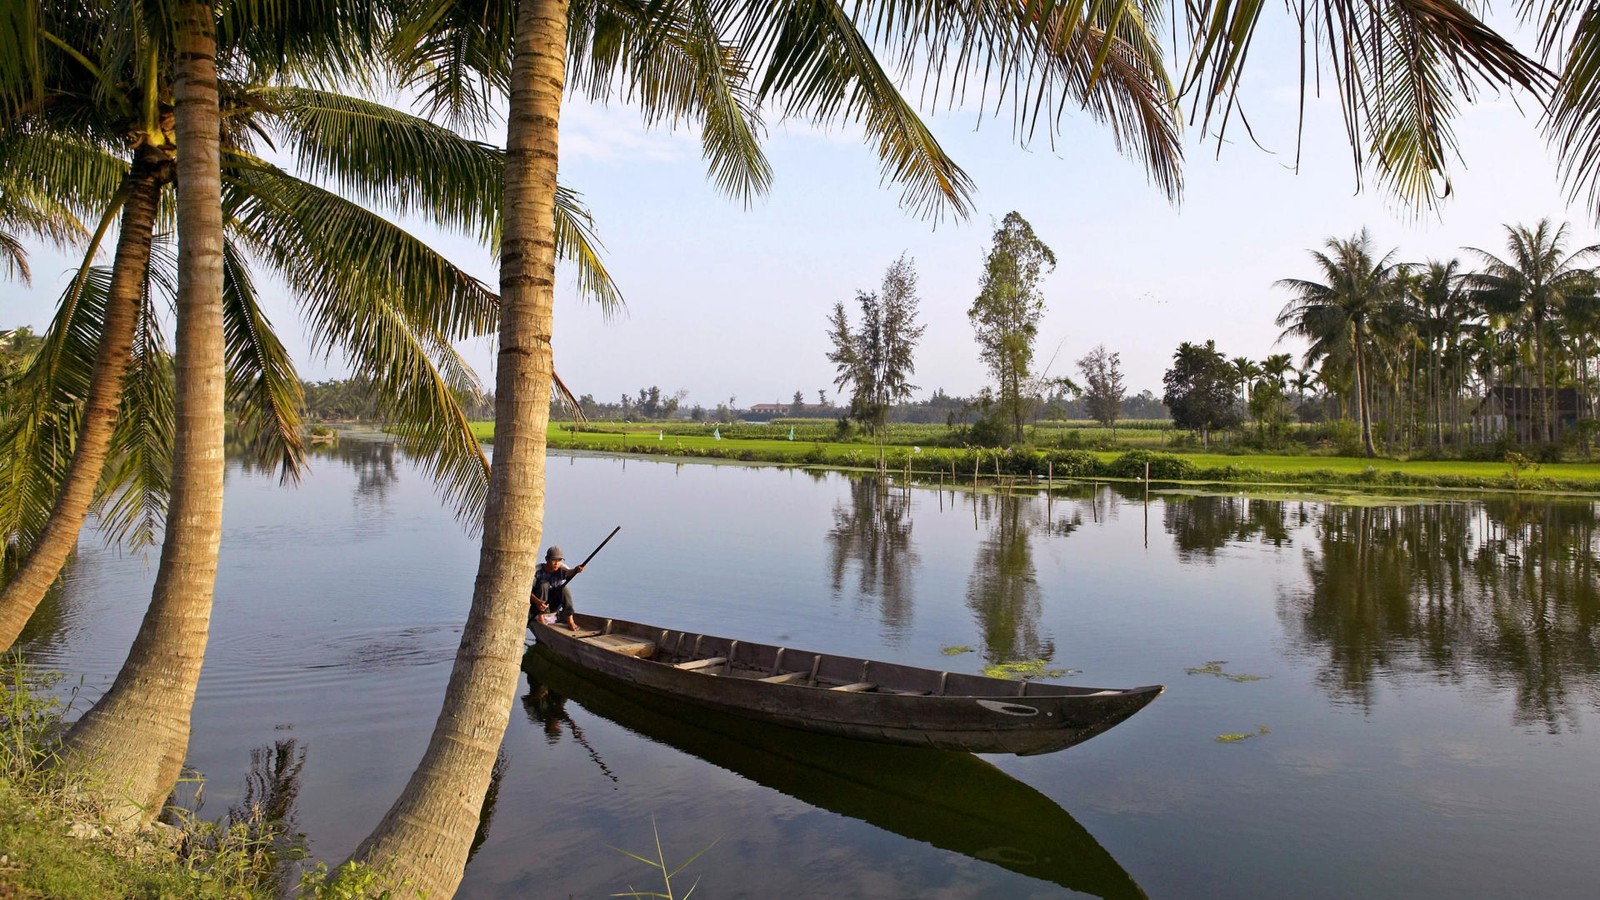
[[[1282,37],[1282,35],[1278,35]],[[1266,40],[1266,35],[1264,38]],[[1526,40],[1518,40],[1526,45]],[[1266,45],[1262,45],[1266,46]],[[1285,46],[1280,40],[1277,46]],[[859,131],[768,123],[774,179],[750,202],[707,183],[698,136],[646,131],[635,110],[570,102],[562,119],[562,183],[595,216],[603,256],[626,298],[613,319],[576,296],[570,272],[555,303],[555,367],[576,394],[614,402],[658,386],[686,391],[686,404],[787,404],[795,391],[835,397],[827,362],[827,314],[909,255],[918,274],[920,319],[912,383],[970,396],[989,384],[966,311],[998,221],[1021,213],[1058,258],[1042,283],[1046,312],[1035,365],[1075,376],[1096,344],[1122,356],[1130,392],[1162,392],[1162,373],[1182,341],[1214,340],[1229,357],[1262,359],[1302,346],[1278,341],[1274,319],[1290,299],[1274,282],[1315,277],[1309,251],[1331,237],[1371,231],[1398,261],[1461,256],[1478,247],[1504,253],[1504,226],[1541,218],[1571,223],[1568,247],[1600,240],[1594,218],[1570,205],[1554,154],[1533,115],[1514,98],[1486,94],[1456,122],[1462,159],[1453,195],[1418,213],[1376,184],[1357,191],[1338,106],[1309,98],[1299,171],[1298,74],[1293,59],[1258,53],[1245,83],[1253,143],[1229,130],[1218,146],[1187,128],[1184,192],[1168,202],[1138,162],[1122,157],[1110,131],[1069,117],[1054,146],[1019,147],[1008,114],[928,115],[946,151],[976,183],[976,211],[933,224],[898,203]],[[1526,102],[1526,101],[1523,101]],[[496,283],[491,255],[469,239],[408,223],[467,271]],[[0,327],[48,323],[74,264],[34,255],[34,287],[0,283]],[[344,375],[342,360],[309,352],[288,298],[269,303],[307,380]],[[461,344],[493,386],[493,338]]]

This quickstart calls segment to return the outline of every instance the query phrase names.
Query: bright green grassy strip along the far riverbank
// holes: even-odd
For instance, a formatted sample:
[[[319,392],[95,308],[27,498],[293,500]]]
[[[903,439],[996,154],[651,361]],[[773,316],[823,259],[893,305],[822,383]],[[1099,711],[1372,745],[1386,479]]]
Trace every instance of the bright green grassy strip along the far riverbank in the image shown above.
[[[573,429],[554,423],[550,447],[610,453],[698,456],[827,468],[872,468],[878,450],[859,440],[830,440],[832,424],[794,428],[787,424],[587,424]],[[1366,460],[1333,455],[1198,453],[1160,452],[1158,445],[1131,450],[990,450],[910,444],[942,426],[896,426],[893,444],[883,450],[890,471],[918,479],[992,482],[995,477],[1054,479],[1139,479],[1144,464],[1150,477],[1176,482],[1221,482],[1240,485],[1309,485],[1347,488],[1445,488],[1445,490],[1542,490],[1600,492],[1600,463],[1510,464],[1467,460]],[[493,423],[475,423],[482,440],[493,440]],[[1141,439],[1155,429],[1122,429]]]

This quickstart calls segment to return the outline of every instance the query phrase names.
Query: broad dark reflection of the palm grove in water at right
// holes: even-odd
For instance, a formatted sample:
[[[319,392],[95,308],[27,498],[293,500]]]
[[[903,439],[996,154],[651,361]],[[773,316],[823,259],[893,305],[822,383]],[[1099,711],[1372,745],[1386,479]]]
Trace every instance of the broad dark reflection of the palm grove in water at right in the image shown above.
[[[1307,586],[1280,615],[1325,657],[1320,681],[1373,703],[1379,677],[1486,676],[1515,722],[1550,733],[1600,703],[1597,516],[1590,503],[1333,506],[1307,552]],[[1576,697],[1574,697],[1576,695]]]

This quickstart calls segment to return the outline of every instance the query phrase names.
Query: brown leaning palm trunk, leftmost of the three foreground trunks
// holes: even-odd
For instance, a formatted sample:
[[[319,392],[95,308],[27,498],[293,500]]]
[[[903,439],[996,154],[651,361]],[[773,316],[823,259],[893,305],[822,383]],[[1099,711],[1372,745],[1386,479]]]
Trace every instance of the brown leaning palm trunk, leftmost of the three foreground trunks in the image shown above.
[[[150,239],[155,229],[162,186],[171,178],[171,162],[154,147],[141,147],[123,176],[122,227],[112,264],[101,346],[94,356],[90,391],[83,399],[83,423],[72,461],[61,480],[61,493],[50,511],[38,540],[27,551],[16,575],[0,589],[0,647],[16,642],[29,617],[38,609],[56,575],[78,546],[78,532],[94,501],[94,485],[106,468],[122,402],[122,378],[133,356],[133,335],[139,323],[144,277],[150,266]]]

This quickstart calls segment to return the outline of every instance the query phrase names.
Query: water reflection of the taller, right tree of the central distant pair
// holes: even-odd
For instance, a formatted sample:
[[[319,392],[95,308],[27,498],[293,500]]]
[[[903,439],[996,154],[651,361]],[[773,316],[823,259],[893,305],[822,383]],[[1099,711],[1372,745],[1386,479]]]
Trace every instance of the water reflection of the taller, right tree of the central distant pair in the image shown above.
[[[1034,519],[1040,504],[1032,498],[986,493],[974,495],[973,503],[989,524],[966,578],[966,605],[978,617],[984,658],[1050,661],[1056,642],[1040,634],[1043,602],[1029,538],[1035,527],[1051,525]],[[1062,519],[1054,530],[1070,533],[1077,527],[1074,519]]]

